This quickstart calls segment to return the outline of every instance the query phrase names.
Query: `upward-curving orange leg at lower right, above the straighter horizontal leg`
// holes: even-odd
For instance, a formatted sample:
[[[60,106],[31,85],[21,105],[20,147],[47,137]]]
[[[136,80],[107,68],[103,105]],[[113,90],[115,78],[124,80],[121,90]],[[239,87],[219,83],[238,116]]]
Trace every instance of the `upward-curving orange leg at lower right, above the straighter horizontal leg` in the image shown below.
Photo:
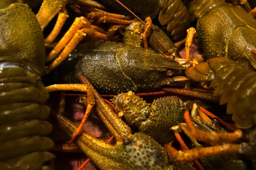
[[[191,133],[198,140],[210,143],[210,144],[221,144],[223,142],[232,142],[239,139],[242,136],[241,130],[236,130],[233,133],[216,133],[216,132],[205,132],[203,130],[198,130],[194,127],[190,120],[189,111],[186,110],[184,113],[184,119],[191,130]]]

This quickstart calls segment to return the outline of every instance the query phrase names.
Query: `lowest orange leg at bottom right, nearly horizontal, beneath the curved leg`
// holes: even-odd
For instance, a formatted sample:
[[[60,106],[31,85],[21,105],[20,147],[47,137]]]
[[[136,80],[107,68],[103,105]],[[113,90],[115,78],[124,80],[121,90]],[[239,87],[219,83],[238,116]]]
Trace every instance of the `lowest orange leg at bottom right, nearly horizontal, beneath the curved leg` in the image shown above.
[[[167,144],[164,147],[169,159],[178,163],[186,163],[189,161],[195,161],[196,159],[204,158],[206,156],[236,153],[239,152],[240,144],[223,144],[220,146],[202,147],[199,149],[191,150],[176,150],[171,144]]]

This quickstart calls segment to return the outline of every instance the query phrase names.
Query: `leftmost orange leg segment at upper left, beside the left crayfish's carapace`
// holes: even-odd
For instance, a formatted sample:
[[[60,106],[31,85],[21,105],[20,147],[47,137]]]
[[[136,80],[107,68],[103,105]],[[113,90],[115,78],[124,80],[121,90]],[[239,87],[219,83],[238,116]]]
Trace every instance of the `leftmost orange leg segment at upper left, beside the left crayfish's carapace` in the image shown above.
[[[68,17],[69,16],[67,15],[67,10],[65,8],[59,12],[57,21],[55,23],[54,28],[52,29],[52,32],[44,40],[45,45],[50,45],[52,41],[55,40]]]

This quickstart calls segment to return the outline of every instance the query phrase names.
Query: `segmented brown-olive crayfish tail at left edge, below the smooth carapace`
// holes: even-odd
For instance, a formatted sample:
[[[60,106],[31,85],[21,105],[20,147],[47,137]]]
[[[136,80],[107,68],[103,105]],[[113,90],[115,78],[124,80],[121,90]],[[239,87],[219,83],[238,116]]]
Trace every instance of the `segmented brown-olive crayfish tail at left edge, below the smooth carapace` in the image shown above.
[[[43,105],[49,95],[36,74],[13,63],[0,65],[0,169],[41,169],[53,159],[53,147],[44,137],[52,131],[46,122],[50,108]]]

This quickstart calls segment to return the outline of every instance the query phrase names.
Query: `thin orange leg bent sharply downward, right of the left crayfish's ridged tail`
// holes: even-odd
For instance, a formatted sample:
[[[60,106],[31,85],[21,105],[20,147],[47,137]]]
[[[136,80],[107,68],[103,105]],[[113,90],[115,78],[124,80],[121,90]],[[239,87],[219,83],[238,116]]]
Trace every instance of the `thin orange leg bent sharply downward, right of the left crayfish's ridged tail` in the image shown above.
[[[76,136],[78,136],[84,127],[85,121],[87,117],[89,116],[89,113],[93,106],[95,105],[95,98],[93,95],[93,91],[88,85],[81,85],[81,84],[60,84],[60,85],[50,85],[47,88],[48,92],[52,91],[81,91],[81,92],[87,92],[87,108],[84,114],[84,117],[79,125],[79,127],[76,129],[76,132],[73,134],[70,142],[68,143],[68,146],[76,139]],[[84,100],[80,100],[81,103],[84,103]],[[64,112],[64,97],[60,101],[60,108],[59,113]],[[62,107],[63,106],[63,107]]]

